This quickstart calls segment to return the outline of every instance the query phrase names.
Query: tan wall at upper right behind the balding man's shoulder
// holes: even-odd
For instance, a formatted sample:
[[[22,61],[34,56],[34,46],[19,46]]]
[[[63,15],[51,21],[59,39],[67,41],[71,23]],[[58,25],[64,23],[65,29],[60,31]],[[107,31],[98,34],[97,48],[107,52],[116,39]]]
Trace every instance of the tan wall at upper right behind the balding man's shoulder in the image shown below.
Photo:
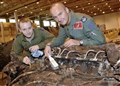
[[[97,24],[105,24],[106,29],[120,28],[120,12],[95,16],[94,20]]]

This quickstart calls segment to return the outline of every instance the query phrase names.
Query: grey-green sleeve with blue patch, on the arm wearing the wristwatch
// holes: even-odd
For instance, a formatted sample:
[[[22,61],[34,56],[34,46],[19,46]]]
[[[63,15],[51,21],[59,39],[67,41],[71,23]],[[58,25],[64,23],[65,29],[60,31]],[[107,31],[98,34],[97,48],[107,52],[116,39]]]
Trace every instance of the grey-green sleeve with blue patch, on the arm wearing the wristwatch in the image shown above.
[[[83,39],[83,45],[101,45],[105,43],[104,34],[97,27],[93,19],[88,19],[83,26],[84,35],[87,37]]]

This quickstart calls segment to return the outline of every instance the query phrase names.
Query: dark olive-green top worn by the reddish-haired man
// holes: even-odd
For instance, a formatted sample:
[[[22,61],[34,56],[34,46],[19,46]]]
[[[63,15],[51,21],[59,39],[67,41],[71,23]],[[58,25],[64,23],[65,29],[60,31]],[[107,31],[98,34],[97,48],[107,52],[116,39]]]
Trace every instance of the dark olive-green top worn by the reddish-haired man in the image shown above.
[[[28,42],[23,34],[19,34],[13,42],[11,53],[15,53],[19,60],[22,60],[24,56],[31,56],[29,47],[38,45],[39,49],[44,49],[45,45],[54,37],[48,31],[44,29],[33,29],[34,37],[31,42]],[[23,51],[25,53],[23,54]]]

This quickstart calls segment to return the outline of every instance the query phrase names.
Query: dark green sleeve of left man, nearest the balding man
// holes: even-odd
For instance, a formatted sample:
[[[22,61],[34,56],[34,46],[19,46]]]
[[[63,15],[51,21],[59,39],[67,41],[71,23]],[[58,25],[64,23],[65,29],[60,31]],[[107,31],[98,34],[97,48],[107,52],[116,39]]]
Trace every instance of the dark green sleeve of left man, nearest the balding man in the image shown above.
[[[44,49],[46,44],[49,43],[53,38],[54,35],[49,33],[46,30],[40,30],[41,31],[41,36],[42,36],[42,42],[38,44],[39,49]]]

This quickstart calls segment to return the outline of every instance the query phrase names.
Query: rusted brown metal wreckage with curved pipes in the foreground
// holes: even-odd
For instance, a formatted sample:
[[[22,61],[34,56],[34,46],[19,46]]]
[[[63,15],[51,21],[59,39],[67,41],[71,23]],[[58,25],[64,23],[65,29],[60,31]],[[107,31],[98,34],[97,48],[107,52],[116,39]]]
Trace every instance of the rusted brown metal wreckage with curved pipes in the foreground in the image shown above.
[[[4,68],[8,86],[119,86],[119,45],[56,47],[52,57],[59,64],[54,70],[44,56],[26,65],[12,55]]]

